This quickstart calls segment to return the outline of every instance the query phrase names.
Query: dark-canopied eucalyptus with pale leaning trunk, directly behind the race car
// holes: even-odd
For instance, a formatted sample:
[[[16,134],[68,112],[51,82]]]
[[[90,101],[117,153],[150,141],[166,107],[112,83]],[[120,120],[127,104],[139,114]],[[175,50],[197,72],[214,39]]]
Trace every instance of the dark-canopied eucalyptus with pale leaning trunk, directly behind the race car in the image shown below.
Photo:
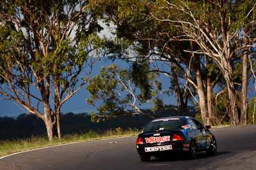
[[[209,120],[207,110],[205,88],[205,82],[207,81],[205,76],[202,75],[205,73],[205,68],[208,68],[202,66],[202,60],[204,60],[205,55],[190,53],[191,50],[197,50],[200,46],[180,36],[182,35],[180,27],[177,27],[177,25],[167,20],[159,20],[152,14],[157,13],[159,16],[161,15],[160,17],[166,17],[168,15],[175,15],[175,13],[171,10],[163,10],[165,7],[163,7],[163,2],[161,1],[102,0],[95,2],[97,4],[95,4],[95,6],[101,6],[101,9],[103,6],[104,18],[107,21],[111,20],[111,22],[116,25],[116,35],[118,38],[129,39],[138,52],[136,56],[132,55],[123,58],[131,60],[143,58],[141,60],[148,60],[152,63],[168,63],[169,66],[172,67],[172,71],[163,71],[157,64],[155,64],[156,69],[153,71],[158,71],[159,73],[170,76],[173,90],[175,90],[175,96],[180,106],[182,104],[182,102],[180,102],[182,100],[180,99],[185,97],[185,102],[183,103],[186,103],[188,94],[193,94],[193,92],[189,92],[189,89],[191,89],[189,87],[192,86],[193,91],[198,94],[199,100],[196,99],[195,94],[192,96],[194,96],[194,99],[200,104],[202,118],[205,124],[210,124],[211,121]],[[161,10],[159,10],[159,8],[161,8]],[[178,15],[179,14],[177,14],[177,16]],[[215,63],[212,62],[211,64]],[[212,73],[214,71],[209,71],[209,73],[210,72]],[[213,78],[212,76],[208,78],[209,84],[212,83],[211,90],[208,91],[211,91],[212,94],[212,89],[214,85],[216,85],[215,81],[217,80],[215,80],[215,78],[211,80],[210,77]],[[184,90],[182,90],[183,88],[180,89],[182,84],[180,80],[182,79],[186,80],[186,83],[184,83],[186,88]],[[210,80],[212,82],[210,82]],[[210,98],[212,99],[211,95]]]

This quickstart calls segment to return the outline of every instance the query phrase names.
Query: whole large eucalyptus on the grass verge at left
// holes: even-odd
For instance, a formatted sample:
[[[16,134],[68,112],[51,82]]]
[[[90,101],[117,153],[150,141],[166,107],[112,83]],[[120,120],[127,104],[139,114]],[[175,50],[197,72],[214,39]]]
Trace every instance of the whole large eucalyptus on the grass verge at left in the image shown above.
[[[0,94],[41,118],[49,141],[90,78],[101,29],[89,1],[1,1]]]

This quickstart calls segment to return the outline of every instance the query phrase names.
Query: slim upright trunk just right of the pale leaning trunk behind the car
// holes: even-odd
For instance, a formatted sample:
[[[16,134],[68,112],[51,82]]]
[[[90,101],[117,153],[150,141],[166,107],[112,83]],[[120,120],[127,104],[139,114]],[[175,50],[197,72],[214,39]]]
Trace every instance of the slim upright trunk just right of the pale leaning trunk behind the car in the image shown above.
[[[207,110],[208,110],[208,119],[209,125],[212,125],[213,111],[212,111],[212,89],[214,83],[211,81],[211,78],[207,76]]]

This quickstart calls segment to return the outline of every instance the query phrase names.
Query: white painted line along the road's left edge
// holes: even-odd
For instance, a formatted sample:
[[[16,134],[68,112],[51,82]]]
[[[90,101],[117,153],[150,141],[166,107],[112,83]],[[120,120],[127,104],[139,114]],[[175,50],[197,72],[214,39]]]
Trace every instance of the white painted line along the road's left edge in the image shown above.
[[[128,138],[128,137],[132,137],[132,136],[122,136],[122,137],[117,137],[117,138],[106,138],[106,139],[94,139],[94,140],[90,140],[90,141],[106,141],[106,140],[109,140],[109,139],[121,139],[121,138]],[[42,148],[36,148],[36,149],[32,149],[32,150],[25,150],[25,151],[22,151],[22,152],[16,152],[16,153],[12,153],[10,155],[5,155],[3,157],[0,157],[0,160],[4,159],[6,157],[11,157],[13,155],[20,154],[20,153],[31,152],[31,151],[35,151],[35,150],[42,150],[42,149],[45,149],[45,148],[53,148],[53,147],[57,147],[57,146],[72,145],[72,144],[76,144],[76,143],[90,142],[90,141],[79,141],[79,142],[73,142],[73,143],[64,143],[64,144],[60,144],[60,145],[52,145],[52,146],[45,146],[45,147],[42,147]]]

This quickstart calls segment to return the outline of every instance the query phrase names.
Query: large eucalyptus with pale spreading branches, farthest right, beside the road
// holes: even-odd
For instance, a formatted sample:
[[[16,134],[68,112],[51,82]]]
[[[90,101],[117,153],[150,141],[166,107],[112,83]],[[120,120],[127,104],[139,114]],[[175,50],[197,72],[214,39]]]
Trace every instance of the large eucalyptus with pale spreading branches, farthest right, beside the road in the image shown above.
[[[200,48],[191,53],[204,54],[217,64],[227,84],[232,124],[246,124],[247,59],[255,39],[256,1],[156,1],[150,15],[159,22],[171,22],[182,32],[179,39],[193,41]],[[243,60],[241,115],[239,115],[234,65]]]

